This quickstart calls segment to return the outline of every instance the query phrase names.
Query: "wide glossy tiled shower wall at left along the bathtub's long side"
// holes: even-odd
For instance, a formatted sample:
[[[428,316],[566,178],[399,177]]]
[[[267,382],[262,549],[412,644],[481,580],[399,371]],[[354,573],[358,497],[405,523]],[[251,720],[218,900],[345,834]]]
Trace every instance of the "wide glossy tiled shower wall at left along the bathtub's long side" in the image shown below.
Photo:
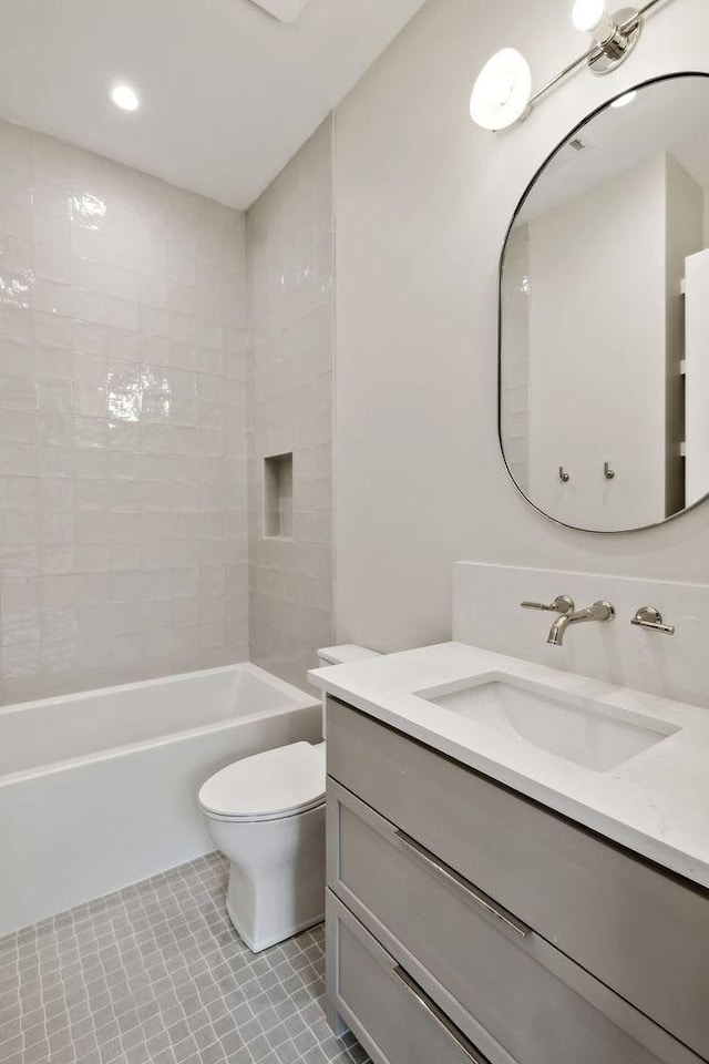
[[[0,697],[248,656],[244,216],[0,124]]]

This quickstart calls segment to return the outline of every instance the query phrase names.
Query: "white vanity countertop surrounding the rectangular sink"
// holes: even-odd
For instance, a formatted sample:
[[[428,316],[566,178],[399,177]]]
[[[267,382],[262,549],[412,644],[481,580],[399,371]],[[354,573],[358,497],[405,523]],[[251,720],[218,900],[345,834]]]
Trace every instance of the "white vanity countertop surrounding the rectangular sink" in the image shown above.
[[[493,674],[590,697],[678,728],[594,771],[417,695]],[[318,668],[311,683],[620,846],[709,888],[709,710],[463,643]]]

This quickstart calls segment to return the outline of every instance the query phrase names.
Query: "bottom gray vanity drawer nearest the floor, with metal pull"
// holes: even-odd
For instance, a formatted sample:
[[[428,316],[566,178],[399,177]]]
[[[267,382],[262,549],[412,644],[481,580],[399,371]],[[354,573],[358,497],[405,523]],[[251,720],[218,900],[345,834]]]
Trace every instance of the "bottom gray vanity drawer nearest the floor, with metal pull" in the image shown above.
[[[328,891],[335,1006],[376,1064],[491,1064]]]

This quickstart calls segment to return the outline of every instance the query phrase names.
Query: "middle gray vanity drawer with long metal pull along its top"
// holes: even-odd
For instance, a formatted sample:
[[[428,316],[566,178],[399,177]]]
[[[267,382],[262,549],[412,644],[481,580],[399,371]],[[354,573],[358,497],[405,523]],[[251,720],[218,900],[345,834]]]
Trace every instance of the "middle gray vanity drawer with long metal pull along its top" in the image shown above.
[[[328,886],[414,978],[430,973],[521,1064],[698,1062],[331,779]]]

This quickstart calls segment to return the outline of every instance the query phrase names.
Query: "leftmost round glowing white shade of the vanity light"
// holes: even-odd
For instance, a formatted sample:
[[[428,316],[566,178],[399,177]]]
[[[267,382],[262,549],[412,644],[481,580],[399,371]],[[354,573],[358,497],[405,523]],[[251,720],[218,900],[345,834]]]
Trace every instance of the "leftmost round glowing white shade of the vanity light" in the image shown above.
[[[470,116],[483,130],[505,130],[527,109],[532,71],[524,55],[503,48],[481,70],[470,98]]]

